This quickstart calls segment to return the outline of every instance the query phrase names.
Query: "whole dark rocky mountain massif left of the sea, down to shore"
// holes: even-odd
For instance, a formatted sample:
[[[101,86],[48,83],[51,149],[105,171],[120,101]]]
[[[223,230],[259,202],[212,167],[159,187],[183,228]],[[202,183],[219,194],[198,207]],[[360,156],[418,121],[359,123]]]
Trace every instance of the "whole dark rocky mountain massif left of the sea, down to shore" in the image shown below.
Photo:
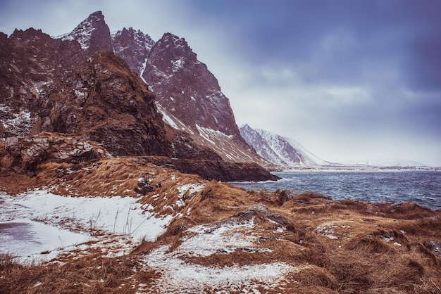
[[[42,132],[70,134],[101,144],[113,156],[163,156],[168,160],[151,160],[207,179],[273,179],[275,176],[256,164],[269,162],[240,137],[228,98],[206,96],[217,82],[194,87],[182,84],[197,84],[203,75],[216,81],[213,75],[197,61],[184,39],[171,34],[165,37],[172,39],[165,47],[161,44],[166,38],[154,43],[132,29],[116,32],[112,39],[100,12],[61,37],[32,28],[15,30],[10,37],[0,33],[1,141]],[[153,52],[155,58],[149,59]],[[189,57],[181,59],[179,54]],[[184,73],[168,72],[173,60],[185,60],[179,67]],[[178,68],[178,63],[173,64]],[[157,70],[151,70],[152,66]],[[197,72],[197,67],[202,70]],[[168,74],[168,83],[154,84],[159,94],[140,77],[144,70]],[[192,70],[196,78],[187,79]],[[187,105],[188,97],[176,96],[176,103],[166,105],[170,110],[158,103],[162,96],[172,97],[169,93],[190,90],[190,100],[199,101],[197,108]],[[213,113],[212,120],[206,120],[209,113]],[[0,172],[23,172],[20,167],[11,171],[20,154],[6,155]]]

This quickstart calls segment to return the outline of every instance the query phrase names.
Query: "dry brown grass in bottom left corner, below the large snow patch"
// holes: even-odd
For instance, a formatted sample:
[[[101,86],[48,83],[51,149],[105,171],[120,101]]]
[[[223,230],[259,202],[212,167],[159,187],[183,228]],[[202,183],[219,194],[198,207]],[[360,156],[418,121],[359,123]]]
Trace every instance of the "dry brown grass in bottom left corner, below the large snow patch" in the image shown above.
[[[132,256],[80,257],[63,265],[1,267],[0,293],[136,293],[139,283],[151,283],[154,271],[137,268]]]

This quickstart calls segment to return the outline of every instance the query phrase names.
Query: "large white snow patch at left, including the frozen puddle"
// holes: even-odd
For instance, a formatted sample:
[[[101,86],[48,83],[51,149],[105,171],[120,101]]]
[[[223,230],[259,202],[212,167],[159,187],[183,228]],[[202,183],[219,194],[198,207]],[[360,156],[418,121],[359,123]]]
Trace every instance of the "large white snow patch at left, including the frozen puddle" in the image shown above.
[[[154,241],[173,218],[156,217],[151,205],[119,196],[65,197],[40,190],[18,196],[0,193],[0,204],[0,253],[27,260],[51,260],[61,253],[60,246],[86,250],[81,245],[86,241],[118,248],[108,254],[128,253],[142,238]],[[39,254],[45,251],[54,254]]]

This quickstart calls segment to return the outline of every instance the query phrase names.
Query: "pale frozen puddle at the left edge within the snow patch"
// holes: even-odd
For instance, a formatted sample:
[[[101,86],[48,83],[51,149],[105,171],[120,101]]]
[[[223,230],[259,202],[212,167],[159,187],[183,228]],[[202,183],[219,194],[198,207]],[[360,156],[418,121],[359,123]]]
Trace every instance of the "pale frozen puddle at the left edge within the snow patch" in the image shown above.
[[[64,248],[83,243],[89,238],[85,234],[28,219],[0,223],[0,253],[9,253],[22,262],[54,258]]]

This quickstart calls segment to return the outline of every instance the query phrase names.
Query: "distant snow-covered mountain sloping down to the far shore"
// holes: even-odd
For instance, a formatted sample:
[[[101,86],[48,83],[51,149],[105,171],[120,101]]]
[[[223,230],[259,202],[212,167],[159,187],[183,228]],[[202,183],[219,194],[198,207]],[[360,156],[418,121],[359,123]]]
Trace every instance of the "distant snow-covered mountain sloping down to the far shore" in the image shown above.
[[[293,139],[263,129],[252,129],[248,124],[240,127],[240,134],[259,155],[280,167],[330,165]]]

